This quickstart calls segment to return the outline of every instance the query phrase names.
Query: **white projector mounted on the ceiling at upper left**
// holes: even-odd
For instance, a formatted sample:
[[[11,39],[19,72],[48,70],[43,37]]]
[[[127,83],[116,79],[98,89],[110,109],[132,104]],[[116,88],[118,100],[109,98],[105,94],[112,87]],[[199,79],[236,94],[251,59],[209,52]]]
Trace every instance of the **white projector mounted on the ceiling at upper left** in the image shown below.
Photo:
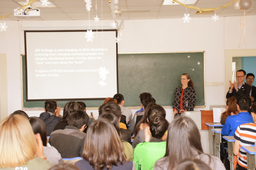
[[[20,8],[14,9],[14,16],[17,18],[44,18],[44,14],[40,9],[31,7],[19,9]],[[29,9],[29,11],[27,11],[27,9]]]

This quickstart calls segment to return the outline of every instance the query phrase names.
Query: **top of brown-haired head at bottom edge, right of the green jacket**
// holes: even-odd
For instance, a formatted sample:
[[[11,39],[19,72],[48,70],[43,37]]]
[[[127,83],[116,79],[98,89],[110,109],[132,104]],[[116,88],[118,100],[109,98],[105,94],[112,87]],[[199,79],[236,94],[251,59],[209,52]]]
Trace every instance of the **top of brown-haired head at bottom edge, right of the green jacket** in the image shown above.
[[[200,159],[185,158],[174,170],[211,170],[211,168]]]

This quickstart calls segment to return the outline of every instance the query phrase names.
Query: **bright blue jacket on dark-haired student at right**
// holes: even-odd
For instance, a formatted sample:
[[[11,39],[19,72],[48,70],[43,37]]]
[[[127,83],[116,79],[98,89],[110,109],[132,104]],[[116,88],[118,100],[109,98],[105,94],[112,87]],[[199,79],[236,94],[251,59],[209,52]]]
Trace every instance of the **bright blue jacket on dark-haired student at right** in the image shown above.
[[[222,128],[222,135],[234,136],[238,126],[252,122],[254,122],[253,116],[249,112],[241,112],[236,115],[230,115],[226,118],[225,124]]]

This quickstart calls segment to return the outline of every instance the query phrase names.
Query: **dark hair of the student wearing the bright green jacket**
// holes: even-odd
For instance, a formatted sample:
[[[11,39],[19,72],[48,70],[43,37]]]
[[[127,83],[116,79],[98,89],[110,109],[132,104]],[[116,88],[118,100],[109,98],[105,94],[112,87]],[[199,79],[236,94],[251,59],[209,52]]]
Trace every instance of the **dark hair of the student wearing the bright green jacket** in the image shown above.
[[[161,139],[168,129],[169,122],[162,116],[155,115],[149,122],[152,137]]]

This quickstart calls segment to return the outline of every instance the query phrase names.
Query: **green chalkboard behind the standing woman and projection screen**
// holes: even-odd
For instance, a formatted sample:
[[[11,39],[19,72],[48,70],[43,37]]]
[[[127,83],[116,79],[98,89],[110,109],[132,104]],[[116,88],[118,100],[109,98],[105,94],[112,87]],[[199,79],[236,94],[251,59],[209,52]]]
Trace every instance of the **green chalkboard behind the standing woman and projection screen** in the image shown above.
[[[188,73],[196,90],[196,106],[205,106],[204,52],[118,54],[119,93],[126,107],[140,106],[139,94],[150,92],[161,106],[172,106],[180,78]],[[26,64],[22,56],[23,108],[43,108],[44,102],[26,100]],[[113,97],[113,96],[109,96]],[[64,107],[68,101],[58,101]],[[84,101],[89,108],[99,107],[103,100]]]

